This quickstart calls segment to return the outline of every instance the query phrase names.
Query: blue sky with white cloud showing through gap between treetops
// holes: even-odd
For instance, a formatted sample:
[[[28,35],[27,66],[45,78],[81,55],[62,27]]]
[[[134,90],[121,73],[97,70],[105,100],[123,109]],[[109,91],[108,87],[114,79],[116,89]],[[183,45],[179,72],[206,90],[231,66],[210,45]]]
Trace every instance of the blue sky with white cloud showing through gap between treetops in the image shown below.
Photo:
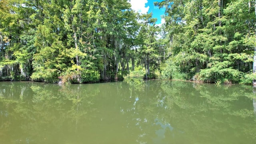
[[[132,9],[141,14],[146,14],[147,12],[153,13],[153,18],[157,18],[156,24],[160,25],[164,23],[164,19],[161,18],[161,15],[164,14],[164,9],[159,9],[157,6],[154,6],[154,2],[161,2],[163,0],[130,0]]]

